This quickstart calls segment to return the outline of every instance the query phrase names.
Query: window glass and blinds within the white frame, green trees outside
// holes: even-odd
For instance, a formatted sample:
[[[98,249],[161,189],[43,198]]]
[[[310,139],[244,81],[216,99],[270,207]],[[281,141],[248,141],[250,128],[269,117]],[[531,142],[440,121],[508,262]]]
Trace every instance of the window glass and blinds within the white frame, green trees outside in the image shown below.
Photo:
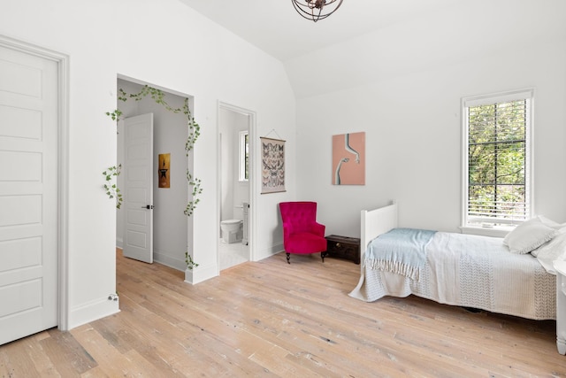
[[[524,220],[527,216],[527,101],[470,106],[467,219]]]

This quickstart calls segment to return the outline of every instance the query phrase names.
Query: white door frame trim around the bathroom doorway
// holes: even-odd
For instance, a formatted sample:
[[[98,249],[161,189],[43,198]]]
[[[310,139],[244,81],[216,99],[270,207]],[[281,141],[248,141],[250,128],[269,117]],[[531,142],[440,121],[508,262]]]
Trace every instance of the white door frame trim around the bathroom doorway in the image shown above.
[[[250,165],[249,165],[249,212],[248,212],[248,232],[249,232],[249,261],[256,261],[256,203],[257,203],[257,189],[256,189],[256,172],[257,172],[257,154],[256,154],[256,112],[252,112],[249,109],[241,108],[240,106],[236,106],[233,104],[224,103],[222,101],[218,101],[217,105],[217,125],[216,125],[216,134],[217,134],[217,151],[220,151],[220,125],[219,125],[219,114],[220,109],[225,109],[231,112],[238,112],[240,114],[246,115],[249,117],[249,151],[250,151]],[[220,261],[219,261],[219,246],[218,242],[220,240],[220,201],[221,193],[220,193],[220,182],[222,181],[221,177],[221,164],[220,159],[218,158],[217,154],[217,212],[216,212],[216,224],[217,227],[217,243],[216,243],[216,255],[217,255],[217,266],[218,266],[218,274],[220,273]]]

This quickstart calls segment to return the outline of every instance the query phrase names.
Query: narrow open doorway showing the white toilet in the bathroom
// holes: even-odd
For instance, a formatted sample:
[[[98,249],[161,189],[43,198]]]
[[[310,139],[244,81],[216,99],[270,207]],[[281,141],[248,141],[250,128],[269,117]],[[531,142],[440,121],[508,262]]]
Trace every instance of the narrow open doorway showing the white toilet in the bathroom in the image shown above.
[[[218,103],[218,270],[252,259],[255,113]]]

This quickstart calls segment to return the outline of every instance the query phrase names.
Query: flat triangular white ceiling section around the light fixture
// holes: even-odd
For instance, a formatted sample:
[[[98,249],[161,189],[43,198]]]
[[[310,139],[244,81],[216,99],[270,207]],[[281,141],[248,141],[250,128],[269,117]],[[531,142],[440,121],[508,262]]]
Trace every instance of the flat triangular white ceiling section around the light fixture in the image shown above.
[[[291,0],[180,0],[282,62],[463,0],[344,0],[317,23]],[[466,2],[468,3],[468,2]]]

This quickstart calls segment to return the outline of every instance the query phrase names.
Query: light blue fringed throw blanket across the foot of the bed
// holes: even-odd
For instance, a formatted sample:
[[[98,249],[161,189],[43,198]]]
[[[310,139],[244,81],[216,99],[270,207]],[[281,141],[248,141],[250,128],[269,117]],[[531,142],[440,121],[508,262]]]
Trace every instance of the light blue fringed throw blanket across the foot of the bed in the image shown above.
[[[420,278],[426,264],[426,246],[436,231],[394,228],[371,241],[365,252],[365,265],[371,269]]]

